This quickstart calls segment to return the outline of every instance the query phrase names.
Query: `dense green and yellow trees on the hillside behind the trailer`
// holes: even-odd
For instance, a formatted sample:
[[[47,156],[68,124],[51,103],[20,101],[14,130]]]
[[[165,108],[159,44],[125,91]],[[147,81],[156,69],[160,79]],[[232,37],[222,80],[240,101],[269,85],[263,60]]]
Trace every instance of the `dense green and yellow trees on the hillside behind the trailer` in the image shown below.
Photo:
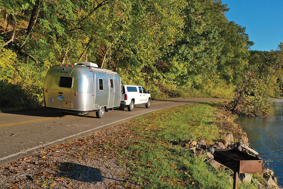
[[[249,58],[253,42],[245,27],[228,22],[229,8],[220,0],[0,1],[1,30],[13,13],[17,29],[26,28],[39,2],[32,33],[17,30],[14,43],[0,54],[0,79],[32,91],[27,96],[39,105],[46,70],[59,63],[97,63],[117,71],[124,84],[145,86],[153,99],[232,97],[245,70],[253,65],[266,75],[264,65],[277,53],[264,52],[264,59],[250,51]],[[13,27],[10,18],[2,44],[11,39]],[[267,75],[277,82],[267,82],[266,90],[278,94],[280,77]]]

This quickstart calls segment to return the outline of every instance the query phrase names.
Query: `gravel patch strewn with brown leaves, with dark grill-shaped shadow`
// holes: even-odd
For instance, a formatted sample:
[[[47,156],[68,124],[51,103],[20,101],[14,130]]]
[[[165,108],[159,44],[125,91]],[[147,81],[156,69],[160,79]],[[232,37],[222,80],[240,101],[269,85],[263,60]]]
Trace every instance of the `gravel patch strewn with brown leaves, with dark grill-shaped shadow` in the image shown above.
[[[124,136],[119,133],[125,135],[125,130],[111,128],[4,165],[0,189],[131,188],[129,169],[117,157],[119,150],[105,147],[111,141],[122,144]]]

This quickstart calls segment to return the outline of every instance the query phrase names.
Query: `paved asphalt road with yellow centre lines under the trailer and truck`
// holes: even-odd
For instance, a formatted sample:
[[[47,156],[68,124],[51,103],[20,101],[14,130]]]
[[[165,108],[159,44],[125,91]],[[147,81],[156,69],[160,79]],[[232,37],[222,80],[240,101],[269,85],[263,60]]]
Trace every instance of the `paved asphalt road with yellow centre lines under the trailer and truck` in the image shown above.
[[[106,112],[104,118],[96,118],[95,113],[86,115],[62,115],[51,110],[0,113],[0,164],[15,161],[62,143],[90,135],[113,124],[125,122],[134,117],[164,108],[194,102],[224,100],[213,98],[186,98],[154,100],[149,109],[144,105],[134,107],[132,112],[113,110]]]

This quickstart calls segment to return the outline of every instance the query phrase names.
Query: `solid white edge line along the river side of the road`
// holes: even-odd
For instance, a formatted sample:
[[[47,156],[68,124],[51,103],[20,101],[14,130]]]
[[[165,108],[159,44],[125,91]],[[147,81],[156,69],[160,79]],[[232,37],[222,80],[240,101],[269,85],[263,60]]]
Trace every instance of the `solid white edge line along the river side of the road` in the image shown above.
[[[205,102],[205,101],[199,101],[199,102]],[[190,103],[195,103],[195,102],[188,102],[188,103],[185,103],[185,104],[190,104]],[[182,106],[182,105],[185,105],[185,104],[180,104],[180,105],[175,105],[175,106],[170,106],[170,107]],[[74,134],[74,135],[70,135],[70,136],[64,137],[64,138],[62,138],[62,139],[57,139],[57,140],[55,140],[55,141],[48,142],[48,143],[43,144],[43,145],[40,145],[40,146],[35,146],[35,147],[33,147],[33,148],[29,148],[29,149],[27,149],[27,150],[20,151],[20,152],[18,152],[18,153],[11,154],[11,155],[9,155],[9,156],[1,157],[1,158],[0,158],[0,161],[1,161],[1,160],[4,160],[4,159],[8,159],[8,158],[10,158],[10,157],[14,157],[14,156],[20,155],[20,154],[27,153],[28,151],[32,151],[32,150],[35,150],[35,149],[44,147],[44,146],[47,146],[47,145],[49,145],[49,144],[53,144],[53,143],[55,143],[55,142],[60,142],[60,141],[65,140],[65,139],[69,139],[69,138],[71,138],[71,137],[74,137],[74,136],[77,136],[77,135],[80,135],[80,134],[83,134],[83,133],[87,133],[87,132],[93,131],[93,130],[98,129],[98,128],[101,128],[101,127],[105,127],[105,126],[111,125],[111,124],[113,124],[113,123],[117,123],[117,122],[120,122],[120,121],[124,121],[124,120],[126,120],[126,119],[131,119],[131,118],[134,118],[134,117],[138,117],[138,116],[140,116],[140,115],[144,115],[144,114],[147,114],[147,113],[151,113],[151,112],[155,112],[155,111],[167,109],[167,108],[170,108],[170,107],[164,107],[164,108],[161,108],[161,109],[158,109],[158,110],[152,110],[152,111],[149,111],[149,112],[146,112],[146,113],[141,113],[141,114],[138,114],[138,115],[131,116],[131,117],[129,117],[129,118],[125,118],[125,119],[121,119],[121,120],[118,120],[118,121],[114,121],[114,122],[108,123],[108,124],[106,124],[106,125],[102,125],[102,126],[99,126],[99,127],[96,127],[96,128],[92,128],[92,129],[87,130],[87,131],[83,131],[83,132],[80,132],[80,133],[77,133],[77,134]]]

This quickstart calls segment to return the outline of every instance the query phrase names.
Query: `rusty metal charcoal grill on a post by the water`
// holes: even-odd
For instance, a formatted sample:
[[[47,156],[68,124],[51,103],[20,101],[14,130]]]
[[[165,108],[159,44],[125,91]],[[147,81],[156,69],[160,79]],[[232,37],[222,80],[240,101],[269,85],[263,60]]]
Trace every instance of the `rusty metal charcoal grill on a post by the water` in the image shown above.
[[[238,173],[262,171],[262,159],[236,149],[215,149],[214,160],[234,171],[233,189],[237,189]]]

